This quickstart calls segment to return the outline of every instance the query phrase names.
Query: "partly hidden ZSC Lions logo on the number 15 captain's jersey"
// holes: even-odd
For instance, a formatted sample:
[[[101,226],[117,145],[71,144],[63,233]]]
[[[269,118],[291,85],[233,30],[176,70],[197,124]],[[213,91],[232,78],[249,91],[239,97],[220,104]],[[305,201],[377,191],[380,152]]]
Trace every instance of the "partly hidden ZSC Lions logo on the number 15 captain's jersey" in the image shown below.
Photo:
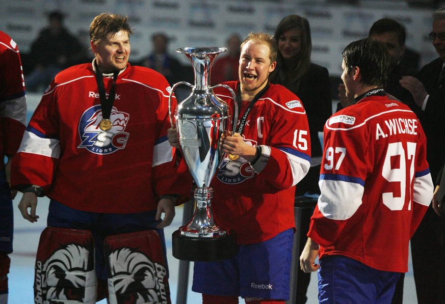
[[[243,136],[244,137],[244,136]],[[246,144],[256,147],[256,143],[244,139]],[[225,184],[239,184],[246,179],[252,178],[255,174],[247,160],[239,157],[237,160],[230,160],[227,155],[220,165],[217,173],[218,179]]]

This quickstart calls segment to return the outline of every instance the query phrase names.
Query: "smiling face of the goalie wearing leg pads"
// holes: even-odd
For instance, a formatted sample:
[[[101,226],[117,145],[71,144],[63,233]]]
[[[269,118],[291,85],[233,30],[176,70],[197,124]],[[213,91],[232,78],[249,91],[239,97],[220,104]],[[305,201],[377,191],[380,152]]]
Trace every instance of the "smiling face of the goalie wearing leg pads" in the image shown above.
[[[130,39],[127,31],[108,35],[106,39],[94,44],[91,41],[97,66],[102,73],[113,73],[125,69],[130,56]]]

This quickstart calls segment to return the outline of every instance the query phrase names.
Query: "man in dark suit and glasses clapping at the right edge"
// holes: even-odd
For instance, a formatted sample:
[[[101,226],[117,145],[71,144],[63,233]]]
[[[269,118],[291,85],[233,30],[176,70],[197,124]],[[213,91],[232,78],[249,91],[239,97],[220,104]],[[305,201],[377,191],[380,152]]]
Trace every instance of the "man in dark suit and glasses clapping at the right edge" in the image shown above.
[[[445,7],[433,13],[433,29],[429,34],[439,58],[425,65],[418,77],[405,76],[402,87],[409,90],[422,109],[421,123],[427,136],[427,160],[431,176],[437,180],[445,151],[445,79],[441,76],[445,61]],[[445,279],[440,258],[443,217],[430,207],[411,239],[414,282],[419,304],[445,303]]]

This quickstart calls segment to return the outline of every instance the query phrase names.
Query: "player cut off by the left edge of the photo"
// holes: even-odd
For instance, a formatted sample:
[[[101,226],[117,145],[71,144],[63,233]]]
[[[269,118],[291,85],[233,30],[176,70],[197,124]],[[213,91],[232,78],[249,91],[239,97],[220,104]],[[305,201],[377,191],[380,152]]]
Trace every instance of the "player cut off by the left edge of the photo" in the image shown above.
[[[27,100],[17,43],[0,31],[0,304],[8,302],[8,272],[12,253],[11,161],[20,146],[27,116]],[[5,165],[5,156],[8,158]]]

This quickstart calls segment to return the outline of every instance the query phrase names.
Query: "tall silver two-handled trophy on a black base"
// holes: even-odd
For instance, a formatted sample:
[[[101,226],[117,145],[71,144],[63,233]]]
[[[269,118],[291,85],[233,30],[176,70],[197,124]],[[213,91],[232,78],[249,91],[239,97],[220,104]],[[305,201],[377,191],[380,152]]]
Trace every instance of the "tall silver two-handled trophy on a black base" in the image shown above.
[[[173,256],[179,260],[222,260],[238,252],[234,235],[215,223],[211,204],[213,189],[210,183],[223,158],[220,137],[224,130],[234,130],[238,122],[237,102],[234,102],[232,116],[227,103],[213,92],[216,87],[224,87],[236,100],[233,90],[226,85],[209,86],[212,63],[219,53],[226,50],[224,47],[186,47],[176,50],[186,54],[192,62],[195,85],[186,81],[173,85],[169,97],[169,115],[172,127],[178,132],[182,156],[197,186],[192,220],[172,235]],[[172,95],[179,85],[191,87],[192,93],[178,102],[173,119]]]

